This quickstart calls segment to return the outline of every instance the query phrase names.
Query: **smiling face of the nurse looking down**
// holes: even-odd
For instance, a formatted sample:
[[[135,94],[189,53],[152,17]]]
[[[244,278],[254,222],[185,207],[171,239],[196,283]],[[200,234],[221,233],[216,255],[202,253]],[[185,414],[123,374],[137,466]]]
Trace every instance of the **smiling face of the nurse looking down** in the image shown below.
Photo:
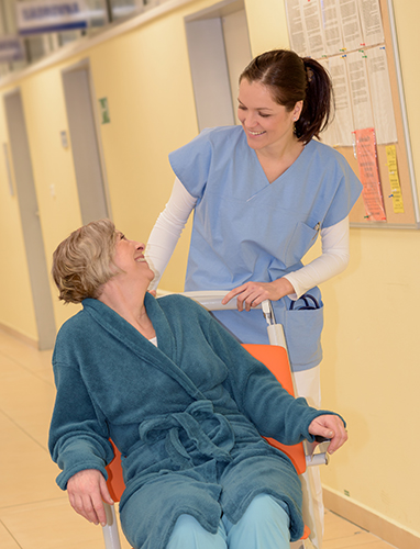
[[[294,123],[299,119],[302,101],[291,111],[278,104],[266,86],[243,78],[239,91],[237,117],[247,143],[255,150],[284,148],[295,141]]]

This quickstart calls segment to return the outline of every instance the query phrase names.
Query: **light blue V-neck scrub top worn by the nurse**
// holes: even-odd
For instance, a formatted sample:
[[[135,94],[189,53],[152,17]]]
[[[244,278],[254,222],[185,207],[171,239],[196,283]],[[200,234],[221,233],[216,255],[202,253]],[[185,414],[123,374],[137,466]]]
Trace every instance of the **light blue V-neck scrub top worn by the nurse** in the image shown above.
[[[317,141],[269,183],[241,126],[205,130],[169,155],[174,172],[197,198],[185,289],[231,290],[250,280],[270,282],[302,267],[323,227],[345,219],[362,186],[345,158]],[[316,311],[274,302],[296,371],[322,358],[322,301]],[[217,316],[241,341],[268,343],[261,311]]]

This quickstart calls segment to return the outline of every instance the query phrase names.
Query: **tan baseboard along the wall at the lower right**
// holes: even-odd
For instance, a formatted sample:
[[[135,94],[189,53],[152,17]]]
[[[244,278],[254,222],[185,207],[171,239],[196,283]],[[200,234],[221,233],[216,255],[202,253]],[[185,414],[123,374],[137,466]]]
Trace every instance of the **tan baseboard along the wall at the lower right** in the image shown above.
[[[328,488],[323,486],[323,503],[325,508],[336,513],[343,518],[356,524],[361,528],[378,536],[384,541],[398,549],[419,549],[420,537],[408,531],[401,526],[390,523],[386,518],[369,511]]]

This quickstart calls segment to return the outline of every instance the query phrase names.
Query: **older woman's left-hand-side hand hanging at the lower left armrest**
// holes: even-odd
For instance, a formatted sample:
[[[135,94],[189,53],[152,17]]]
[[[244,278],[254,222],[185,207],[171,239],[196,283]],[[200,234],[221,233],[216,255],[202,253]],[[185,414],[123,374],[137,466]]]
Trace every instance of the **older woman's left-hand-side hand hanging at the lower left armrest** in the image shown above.
[[[113,504],[103,474],[97,469],[85,469],[67,482],[71,507],[89,523],[106,526],[107,515],[103,502]]]

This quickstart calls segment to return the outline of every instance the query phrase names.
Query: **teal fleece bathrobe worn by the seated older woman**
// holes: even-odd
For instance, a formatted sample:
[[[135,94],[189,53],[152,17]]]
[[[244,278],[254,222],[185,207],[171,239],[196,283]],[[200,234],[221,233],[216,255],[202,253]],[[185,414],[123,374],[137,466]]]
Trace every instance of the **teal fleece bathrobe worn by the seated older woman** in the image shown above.
[[[262,437],[313,440],[321,412],[292,399],[200,305],[145,296],[157,347],[97,300],[60,328],[53,355],[57,396],[49,450],[67,481],[122,453],[120,503],[136,549],[164,549],[179,515],[211,533],[236,523],[253,497],[270,494],[303,530],[300,482],[289,459]]]

